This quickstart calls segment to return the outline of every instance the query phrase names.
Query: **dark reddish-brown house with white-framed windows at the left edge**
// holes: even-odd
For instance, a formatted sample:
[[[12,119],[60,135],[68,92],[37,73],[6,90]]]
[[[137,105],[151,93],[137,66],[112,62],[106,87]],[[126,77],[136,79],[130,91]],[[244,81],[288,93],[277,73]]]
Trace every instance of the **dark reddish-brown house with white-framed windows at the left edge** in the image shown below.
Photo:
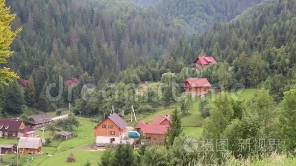
[[[0,119],[0,137],[26,137],[28,131],[34,131],[18,119]]]

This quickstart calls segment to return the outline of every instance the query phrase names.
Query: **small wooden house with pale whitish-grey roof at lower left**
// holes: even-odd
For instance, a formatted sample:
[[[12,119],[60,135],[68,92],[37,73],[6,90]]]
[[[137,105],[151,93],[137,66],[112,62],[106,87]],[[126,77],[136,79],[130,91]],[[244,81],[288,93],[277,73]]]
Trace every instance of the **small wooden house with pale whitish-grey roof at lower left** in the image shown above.
[[[41,153],[42,141],[39,137],[20,137],[18,142],[18,152],[35,154]]]

